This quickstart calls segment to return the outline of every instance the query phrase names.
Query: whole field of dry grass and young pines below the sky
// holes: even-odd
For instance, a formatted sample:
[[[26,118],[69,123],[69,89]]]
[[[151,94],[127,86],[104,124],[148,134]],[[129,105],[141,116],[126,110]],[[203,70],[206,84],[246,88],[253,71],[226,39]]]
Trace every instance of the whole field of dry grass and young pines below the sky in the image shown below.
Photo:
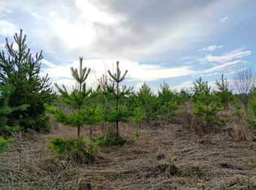
[[[25,52],[22,32],[15,36]],[[9,54],[18,53],[8,41],[6,46]],[[60,94],[50,106],[54,94],[49,79],[37,75],[42,55],[35,61],[29,51],[20,55],[29,63],[0,56],[1,66],[9,64],[0,75],[0,189],[256,188],[255,89],[240,93],[246,94],[250,111],[243,111],[241,105],[247,103],[233,94],[223,75],[215,91],[200,77],[191,91],[172,90],[164,82],[154,94],[144,82],[134,92],[120,87],[128,71],[121,75],[119,62],[116,73],[108,71],[98,80],[98,88],[86,89],[90,69],[80,58],[79,69],[71,68],[78,86],[68,92],[55,84]],[[15,84],[10,66],[33,85],[17,86],[23,82]],[[20,99],[31,96],[31,101],[13,103],[15,93]],[[32,116],[23,120],[13,115],[29,114],[37,98],[42,110],[36,117],[42,125]],[[50,128],[45,110],[52,115]],[[32,128],[25,125],[27,119]],[[16,132],[22,127],[27,130]]]

